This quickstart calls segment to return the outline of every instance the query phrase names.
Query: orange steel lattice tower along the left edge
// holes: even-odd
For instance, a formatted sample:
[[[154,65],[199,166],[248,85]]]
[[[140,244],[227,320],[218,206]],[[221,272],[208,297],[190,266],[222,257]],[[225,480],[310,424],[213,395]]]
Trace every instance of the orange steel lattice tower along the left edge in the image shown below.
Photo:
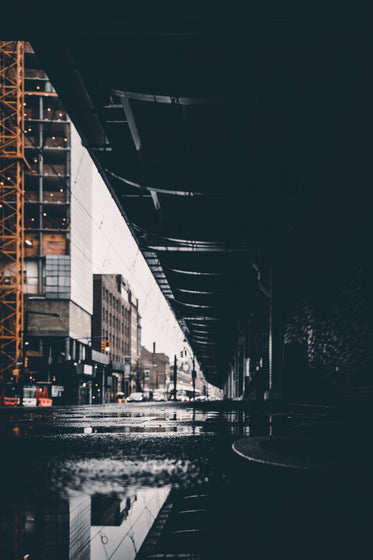
[[[23,362],[24,43],[0,41],[0,380]]]

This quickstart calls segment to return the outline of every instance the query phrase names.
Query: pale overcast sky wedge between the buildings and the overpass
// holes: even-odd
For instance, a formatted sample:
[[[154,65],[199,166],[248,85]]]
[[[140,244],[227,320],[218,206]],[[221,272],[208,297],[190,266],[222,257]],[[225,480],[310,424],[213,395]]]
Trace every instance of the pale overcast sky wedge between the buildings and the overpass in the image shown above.
[[[170,359],[185,346],[181,331],[136,241],[96,168],[93,170],[93,273],[122,274],[139,300],[142,346]]]

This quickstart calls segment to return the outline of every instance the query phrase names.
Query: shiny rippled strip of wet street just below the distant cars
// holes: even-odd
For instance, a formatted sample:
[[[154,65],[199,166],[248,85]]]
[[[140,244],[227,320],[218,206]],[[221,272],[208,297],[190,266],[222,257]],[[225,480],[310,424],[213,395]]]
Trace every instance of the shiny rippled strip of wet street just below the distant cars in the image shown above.
[[[273,428],[283,429],[283,419],[272,419],[271,414],[257,411],[228,410],[209,411],[196,408],[146,409],[105,411],[99,413],[97,407],[81,407],[61,410],[53,416],[44,416],[27,411],[23,415],[8,416],[0,422],[0,435],[30,437],[38,435],[75,434],[156,434],[177,433],[199,435],[201,433],[229,434],[234,437],[252,435],[272,435]]]

